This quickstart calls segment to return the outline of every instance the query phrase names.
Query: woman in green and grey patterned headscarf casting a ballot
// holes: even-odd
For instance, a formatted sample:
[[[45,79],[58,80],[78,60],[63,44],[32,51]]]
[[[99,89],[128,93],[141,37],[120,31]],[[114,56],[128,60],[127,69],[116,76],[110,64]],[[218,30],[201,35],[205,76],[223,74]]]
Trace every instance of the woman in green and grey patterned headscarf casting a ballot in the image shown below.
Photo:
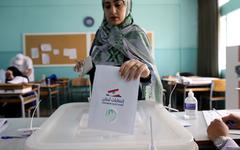
[[[93,65],[120,66],[123,79],[134,80],[140,77],[139,99],[143,99],[142,87],[152,83],[155,99],[162,102],[162,84],[153,58],[146,33],[133,23],[131,0],[102,0],[103,22],[96,33],[90,50]],[[83,62],[78,62],[79,71]],[[95,67],[89,71],[93,81]],[[152,88],[153,89],[153,88]]]

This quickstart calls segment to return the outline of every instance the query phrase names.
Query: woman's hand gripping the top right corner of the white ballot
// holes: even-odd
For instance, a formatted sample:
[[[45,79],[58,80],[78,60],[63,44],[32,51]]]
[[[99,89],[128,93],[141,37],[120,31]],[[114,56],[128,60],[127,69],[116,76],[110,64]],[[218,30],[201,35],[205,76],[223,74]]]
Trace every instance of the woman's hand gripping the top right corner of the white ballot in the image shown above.
[[[131,59],[122,64],[119,70],[120,76],[126,80],[136,80],[137,78],[147,78],[150,75],[148,66],[139,60]]]

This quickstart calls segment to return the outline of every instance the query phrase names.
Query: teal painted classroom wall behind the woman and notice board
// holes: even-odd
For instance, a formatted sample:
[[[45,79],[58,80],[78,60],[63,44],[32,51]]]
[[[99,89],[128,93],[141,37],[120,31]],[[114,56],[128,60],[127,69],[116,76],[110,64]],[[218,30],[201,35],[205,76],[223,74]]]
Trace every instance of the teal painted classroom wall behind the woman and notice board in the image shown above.
[[[83,25],[92,16],[91,28]],[[154,55],[161,75],[196,73],[197,0],[133,0],[137,24],[154,32]],[[0,68],[22,52],[23,33],[95,32],[103,18],[101,0],[1,0]],[[72,67],[35,67],[42,74],[74,78]]]

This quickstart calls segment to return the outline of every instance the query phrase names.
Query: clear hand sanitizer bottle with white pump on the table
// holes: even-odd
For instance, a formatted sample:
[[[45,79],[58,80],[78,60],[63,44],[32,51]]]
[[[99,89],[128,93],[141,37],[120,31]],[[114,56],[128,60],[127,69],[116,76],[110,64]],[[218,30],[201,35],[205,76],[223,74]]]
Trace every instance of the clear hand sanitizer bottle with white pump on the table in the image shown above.
[[[185,119],[195,119],[197,116],[197,99],[194,97],[192,90],[188,92],[188,97],[184,101]]]

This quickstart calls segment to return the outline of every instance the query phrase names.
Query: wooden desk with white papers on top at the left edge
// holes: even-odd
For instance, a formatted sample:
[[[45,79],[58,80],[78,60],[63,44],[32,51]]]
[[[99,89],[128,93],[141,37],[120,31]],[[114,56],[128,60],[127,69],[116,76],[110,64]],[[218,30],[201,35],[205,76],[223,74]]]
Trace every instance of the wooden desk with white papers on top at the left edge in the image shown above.
[[[19,89],[21,86],[21,89]],[[28,90],[30,88],[30,90]],[[1,84],[0,102],[1,103],[21,103],[22,117],[25,118],[25,105],[39,102],[39,84]],[[27,89],[27,90],[25,90]],[[31,93],[31,94],[29,94]],[[29,94],[29,95],[28,95]],[[37,117],[39,117],[39,107],[37,108]]]

